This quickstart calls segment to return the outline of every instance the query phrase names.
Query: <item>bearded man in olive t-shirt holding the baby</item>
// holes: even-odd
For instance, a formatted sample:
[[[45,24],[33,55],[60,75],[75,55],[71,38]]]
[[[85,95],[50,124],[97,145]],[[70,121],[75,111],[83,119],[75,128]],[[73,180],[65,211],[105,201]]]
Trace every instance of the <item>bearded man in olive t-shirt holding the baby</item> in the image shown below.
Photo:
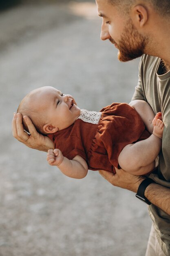
[[[170,1],[169,0],[96,0],[102,17],[101,39],[110,40],[119,49],[120,61],[145,54],[139,65],[139,83],[132,100],[143,99],[161,111],[165,128],[159,169],[152,180],[119,169],[113,175],[100,171],[114,186],[131,190],[150,204],[152,218],[146,256],[170,255]],[[149,56],[150,55],[150,56]],[[155,56],[155,57],[153,57]],[[135,102],[135,101],[134,101]],[[13,136],[31,148],[47,151],[52,141],[38,134],[24,117],[31,135],[24,132],[22,115],[14,114]],[[153,183],[153,180],[156,183]]]

